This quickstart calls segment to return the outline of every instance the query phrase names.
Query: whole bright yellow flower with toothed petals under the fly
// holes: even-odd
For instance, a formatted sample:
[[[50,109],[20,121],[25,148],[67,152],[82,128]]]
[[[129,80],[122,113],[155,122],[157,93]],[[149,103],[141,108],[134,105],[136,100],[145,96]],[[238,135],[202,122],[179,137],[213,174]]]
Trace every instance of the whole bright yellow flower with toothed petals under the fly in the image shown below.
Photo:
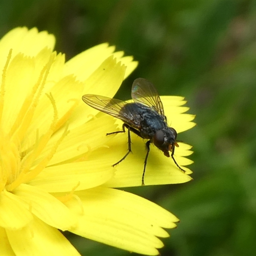
[[[65,63],[54,43],[54,36],[36,28],[15,28],[0,40],[0,253],[79,255],[60,229],[157,255],[163,246],[157,236],[169,236],[163,228],[174,228],[178,219],[114,189],[140,185],[143,141],[132,136],[134,155],[111,167],[127,150],[127,138],[106,136],[117,129],[114,118],[97,115],[81,100],[86,93],[113,97],[137,62],[100,44]],[[180,114],[187,110],[178,107],[182,98],[162,99],[178,132],[194,125],[192,115]],[[178,149],[177,162],[190,164],[183,157],[190,147]],[[147,184],[191,179],[151,151]]]

